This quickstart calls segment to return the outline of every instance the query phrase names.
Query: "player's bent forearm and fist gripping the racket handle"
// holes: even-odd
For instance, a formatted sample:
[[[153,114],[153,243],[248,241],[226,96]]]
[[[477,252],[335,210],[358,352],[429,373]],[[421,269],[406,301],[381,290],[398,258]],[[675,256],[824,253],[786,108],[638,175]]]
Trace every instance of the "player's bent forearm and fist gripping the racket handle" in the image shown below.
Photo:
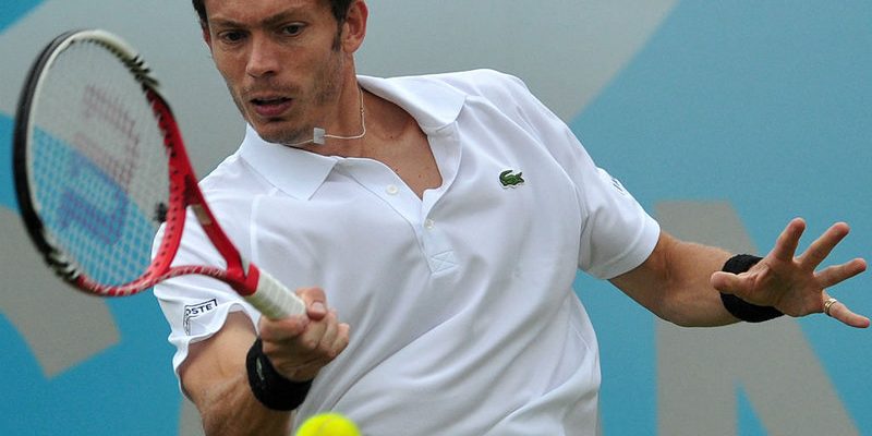
[[[281,320],[262,318],[264,354],[275,370],[291,382],[314,378],[344,350],[349,326],[328,311],[324,291],[298,291],[306,314]],[[241,312],[228,315],[211,338],[192,344],[180,368],[182,387],[196,404],[206,435],[287,435],[290,411],[266,408],[249,384],[245,359],[256,338],[254,326]]]

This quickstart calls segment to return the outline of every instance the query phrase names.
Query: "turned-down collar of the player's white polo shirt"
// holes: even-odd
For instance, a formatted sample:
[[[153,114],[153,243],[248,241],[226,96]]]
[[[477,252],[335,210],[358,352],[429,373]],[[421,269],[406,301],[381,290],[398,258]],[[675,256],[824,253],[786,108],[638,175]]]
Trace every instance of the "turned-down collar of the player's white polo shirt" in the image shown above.
[[[453,87],[424,77],[358,80],[364,89],[409,112],[428,135],[453,123],[467,98]],[[269,183],[300,199],[312,198],[341,159],[268,143],[251,125],[245,128],[240,155]]]

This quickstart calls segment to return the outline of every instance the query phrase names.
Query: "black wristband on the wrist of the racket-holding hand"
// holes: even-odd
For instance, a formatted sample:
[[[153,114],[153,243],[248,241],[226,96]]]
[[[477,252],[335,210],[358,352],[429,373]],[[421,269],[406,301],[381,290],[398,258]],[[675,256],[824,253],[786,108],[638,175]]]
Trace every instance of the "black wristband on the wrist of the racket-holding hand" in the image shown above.
[[[294,410],[303,403],[312,387],[312,380],[291,382],[279,374],[264,354],[264,343],[261,338],[257,338],[249,350],[245,370],[249,373],[249,386],[254,398],[267,409]]]

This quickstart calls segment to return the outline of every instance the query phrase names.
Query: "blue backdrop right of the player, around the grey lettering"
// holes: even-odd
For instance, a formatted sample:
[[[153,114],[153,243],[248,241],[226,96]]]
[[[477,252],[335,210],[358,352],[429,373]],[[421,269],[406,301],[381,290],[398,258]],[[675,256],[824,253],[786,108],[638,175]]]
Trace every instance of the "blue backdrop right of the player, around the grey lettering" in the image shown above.
[[[845,262],[869,256],[872,242],[871,81],[868,1],[682,1],[571,125],[650,210],[728,199],[761,250],[795,216],[809,235],[846,220],[853,233],[833,255]],[[867,275],[833,293],[869,314],[870,289]],[[605,287],[585,296],[604,351],[607,428],[651,434],[651,317]],[[627,311],[638,316],[615,326]],[[872,434],[869,331],[821,317],[800,325],[861,434]],[[747,402],[740,410],[741,434],[766,434]]]

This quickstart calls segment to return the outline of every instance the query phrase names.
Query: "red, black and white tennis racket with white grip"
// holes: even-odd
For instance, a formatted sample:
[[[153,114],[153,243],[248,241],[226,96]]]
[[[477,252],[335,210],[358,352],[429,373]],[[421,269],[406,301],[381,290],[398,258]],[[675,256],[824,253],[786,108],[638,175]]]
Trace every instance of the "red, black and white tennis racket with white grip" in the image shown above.
[[[197,274],[228,283],[269,318],[305,310],[221,230],[157,81],[116,35],[68,32],[43,50],[19,101],[13,167],[31,239],[80,290],[124,296]],[[189,208],[226,265],[171,265]]]

